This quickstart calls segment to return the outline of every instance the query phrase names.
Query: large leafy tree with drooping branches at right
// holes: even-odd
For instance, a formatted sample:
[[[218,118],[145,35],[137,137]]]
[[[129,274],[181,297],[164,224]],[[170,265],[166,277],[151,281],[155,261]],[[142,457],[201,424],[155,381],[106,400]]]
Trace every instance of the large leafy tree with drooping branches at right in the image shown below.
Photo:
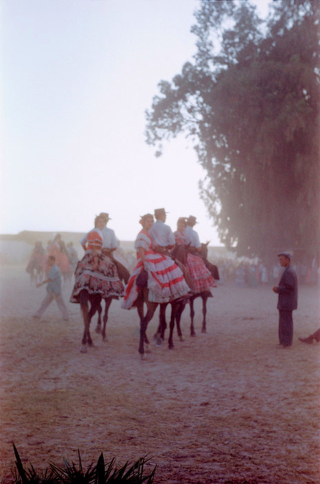
[[[201,0],[193,62],[146,111],[146,142],[189,136],[200,193],[238,254],[320,243],[320,2],[277,0],[267,22],[249,1]]]

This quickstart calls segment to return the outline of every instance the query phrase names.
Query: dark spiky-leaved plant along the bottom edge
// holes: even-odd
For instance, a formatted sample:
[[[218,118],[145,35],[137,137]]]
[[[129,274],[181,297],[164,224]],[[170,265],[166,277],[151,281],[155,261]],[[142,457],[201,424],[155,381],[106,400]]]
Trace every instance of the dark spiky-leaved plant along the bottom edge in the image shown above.
[[[115,457],[105,464],[102,452],[95,465],[90,464],[84,469],[78,450],[77,465],[73,462],[70,464],[63,458],[62,466],[50,463],[49,469],[37,473],[32,465],[28,469],[24,469],[14,443],[13,450],[16,469],[13,473],[12,484],[152,484],[156,469],[155,465],[150,473],[144,472],[144,464],[150,460],[146,455],[131,465],[127,461],[117,468]]]

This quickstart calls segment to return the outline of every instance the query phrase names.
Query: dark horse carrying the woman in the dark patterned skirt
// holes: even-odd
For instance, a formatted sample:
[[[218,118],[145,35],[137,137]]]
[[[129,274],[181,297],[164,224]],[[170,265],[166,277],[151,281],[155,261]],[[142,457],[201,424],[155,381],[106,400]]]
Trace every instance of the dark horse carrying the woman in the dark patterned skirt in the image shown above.
[[[129,272],[128,270],[122,265],[120,262],[117,260],[113,259],[113,262],[116,265],[118,275],[121,280],[124,280],[126,283],[129,278]],[[108,310],[111,304],[112,299],[114,299],[114,296],[110,297],[103,297],[104,302],[105,302],[105,308],[104,308],[104,314],[103,314],[103,327],[101,331],[101,312],[102,312],[102,307],[101,307],[101,300],[102,296],[101,294],[89,294],[87,290],[83,289],[79,293],[79,302],[80,302],[80,308],[82,312],[82,317],[83,317],[83,324],[84,324],[84,330],[83,330],[83,336],[82,336],[82,344],[80,347],[81,353],[86,353],[86,345],[88,344],[89,346],[93,345],[91,334],[90,334],[90,322],[96,311],[98,311],[98,323],[95,328],[96,332],[101,332],[102,334],[102,341],[106,341],[107,338],[105,336],[105,326],[106,322],[108,320]],[[89,309],[89,303],[90,303],[90,309]],[[100,324],[99,324],[100,323]]]

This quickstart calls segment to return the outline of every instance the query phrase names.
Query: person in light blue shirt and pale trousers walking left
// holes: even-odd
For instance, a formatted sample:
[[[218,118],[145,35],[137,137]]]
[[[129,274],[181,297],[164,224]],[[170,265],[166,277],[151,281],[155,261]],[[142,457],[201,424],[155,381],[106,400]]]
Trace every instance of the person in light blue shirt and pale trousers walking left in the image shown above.
[[[47,264],[50,269],[48,278],[43,280],[43,282],[36,284],[36,287],[40,287],[42,284],[47,284],[46,296],[33,317],[39,319],[45,309],[51,304],[53,299],[55,299],[55,302],[62,313],[63,321],[67,321],[69,319],[68,312],[61,295],[61,272],[55,263],[55,257],[53,255],[48,256]]]

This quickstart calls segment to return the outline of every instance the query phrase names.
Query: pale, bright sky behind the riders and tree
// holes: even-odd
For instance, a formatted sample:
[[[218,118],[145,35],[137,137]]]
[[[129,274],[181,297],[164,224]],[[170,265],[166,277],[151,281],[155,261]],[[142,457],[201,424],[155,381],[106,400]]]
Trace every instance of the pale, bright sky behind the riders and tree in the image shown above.
[[[164,207],[172,230],[191,214],[200,240],[220,244],[193,148],[181,135],[155,158],[144,141],[157,83],[195,53],[198,4],[0,0],[0,233],[85,232],[106,211],[134,240],[139,216]]]

